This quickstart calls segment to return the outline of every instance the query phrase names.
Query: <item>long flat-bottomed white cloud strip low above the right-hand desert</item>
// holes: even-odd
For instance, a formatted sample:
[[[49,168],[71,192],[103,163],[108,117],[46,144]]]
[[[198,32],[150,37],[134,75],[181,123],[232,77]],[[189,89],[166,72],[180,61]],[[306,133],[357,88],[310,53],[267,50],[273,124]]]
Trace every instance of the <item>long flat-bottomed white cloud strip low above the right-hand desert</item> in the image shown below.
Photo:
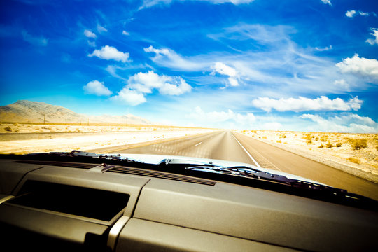
[[[354,97],[344,102],[340,98],[329,99],[328,97],[319,97],[316,99],[309,99],[304,97],[288,98],[288,99],[270,99],[268,97],[259,97],[252,101],[253,106],[256,106],[264,111],[350,111],[358,110],[363,101]]]

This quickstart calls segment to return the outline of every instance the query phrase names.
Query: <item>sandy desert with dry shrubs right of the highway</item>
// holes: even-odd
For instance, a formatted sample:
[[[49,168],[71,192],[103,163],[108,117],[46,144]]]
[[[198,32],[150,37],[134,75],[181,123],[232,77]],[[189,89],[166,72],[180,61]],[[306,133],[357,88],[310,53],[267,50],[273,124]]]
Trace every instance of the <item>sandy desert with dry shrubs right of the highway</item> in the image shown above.
[[[378,183],[378,134],[235,131]]]

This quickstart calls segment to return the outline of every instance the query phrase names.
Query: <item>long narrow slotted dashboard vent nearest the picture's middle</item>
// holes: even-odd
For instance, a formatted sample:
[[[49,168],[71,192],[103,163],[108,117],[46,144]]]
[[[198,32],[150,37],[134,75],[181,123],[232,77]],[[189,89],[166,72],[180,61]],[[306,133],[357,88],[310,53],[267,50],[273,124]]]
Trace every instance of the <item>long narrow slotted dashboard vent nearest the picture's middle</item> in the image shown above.
[[[139,175],[139,176],[151,176],[154,178],[160,178],[160,179],[171,179],[175,181],[183,181],[188,183],[199,183],[202,185],[207,186],[214,186],[216,184],[216,181],[209,181],[206,179],[197,179],[190,176],[183,176],[180,174],[171,174],[167,172],[159,172],[159,171],[153,171],[149,169],[139,169],[139,168],[132,168],[132,167],[113,167],[106,172],[117,172],[122,174],[132,174],[132,175]]]

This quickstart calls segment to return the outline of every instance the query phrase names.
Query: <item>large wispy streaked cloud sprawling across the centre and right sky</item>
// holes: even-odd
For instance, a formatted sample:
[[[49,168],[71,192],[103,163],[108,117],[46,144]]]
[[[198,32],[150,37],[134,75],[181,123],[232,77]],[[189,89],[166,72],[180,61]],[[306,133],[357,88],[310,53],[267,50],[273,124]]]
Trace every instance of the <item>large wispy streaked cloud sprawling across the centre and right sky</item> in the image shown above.
[[[302,95],[307,93],[320,96],[325,93],[339,93],[346,90],[340,90],[340,86],[333,83],[342,78],[349,85],[347,91],[363,90],[368,87],[367,82],[361,81],[356,76],[337,71],[336,62],[329,57],[318,57],[314,48],[303,48],[297,45],[290,36],[295,32],[297,32],[295,27],[286,25],[239,23],[232,27],[218,29],[218,32],[211,33],[208,37],[227,44],[235,44],[232,41],[246,41],[245,43],[266,45],[266,50],[256,52],[230,48],[237,53],[209,52],[194,56],[179,55],[169,48],[154,48],[153,46],[144,48],[144,51],[153,53],[151,59],[156,65],[173,71],[201,71],[202,75],[213,72],[218,75],[220,73],[214,72],[211,66],[214,67],[216,62],[222,62],[235,69],[237,76],[232,78],[230,76],[218,76],[218,78],[192,76],[191,80],[207,86],[224,85],[221,89],[237,85],[237,83],[241,86],[243,83],[244,86],[251,87],[253,92],[263,92],[260,97],[279,98],[276,92],[277,86],[281,87],[281,93],[287,97],[293,97],[295,90],[301,90]],[[228,43],[228,41],[231,42]],[[330,49],[330,45],[328,48]]]

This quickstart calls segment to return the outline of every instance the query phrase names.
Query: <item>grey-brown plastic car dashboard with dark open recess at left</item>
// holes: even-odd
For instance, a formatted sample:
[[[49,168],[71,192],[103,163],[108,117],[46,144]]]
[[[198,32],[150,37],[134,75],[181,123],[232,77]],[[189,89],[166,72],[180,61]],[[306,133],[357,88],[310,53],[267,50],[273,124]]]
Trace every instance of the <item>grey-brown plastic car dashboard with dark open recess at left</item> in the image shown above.
[[[0,160],[13,251],[378,251],[377,211],[136,167]]]

